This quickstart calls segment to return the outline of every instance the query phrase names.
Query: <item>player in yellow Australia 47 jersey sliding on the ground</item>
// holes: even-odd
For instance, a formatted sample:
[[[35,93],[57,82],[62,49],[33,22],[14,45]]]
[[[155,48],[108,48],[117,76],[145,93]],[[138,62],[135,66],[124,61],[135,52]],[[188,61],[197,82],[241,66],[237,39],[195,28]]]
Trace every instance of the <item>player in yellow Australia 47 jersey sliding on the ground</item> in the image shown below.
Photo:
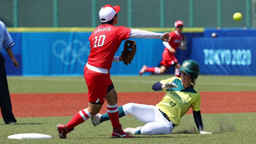
[[[179,71],[181,78],[171,77],[152,86],[155,91],[166,91],[165,96],[156,106],[127,103],[118,107],[120,118],[132,114],[141,122],[146,123],[142,127],[125,128],[124,131],[127,134],[170,134],[173,128],[179,125],[181,117],[190,107],[193,109],[194,121],[200,134],[212,134],[203,130],[200,112],[201,96],[194,87],[199,75],[198,63],[194,60],[185,60]],[[96,126],[106,120],[109,120],[108,114],[97,114],[92,117],[92,124]]]

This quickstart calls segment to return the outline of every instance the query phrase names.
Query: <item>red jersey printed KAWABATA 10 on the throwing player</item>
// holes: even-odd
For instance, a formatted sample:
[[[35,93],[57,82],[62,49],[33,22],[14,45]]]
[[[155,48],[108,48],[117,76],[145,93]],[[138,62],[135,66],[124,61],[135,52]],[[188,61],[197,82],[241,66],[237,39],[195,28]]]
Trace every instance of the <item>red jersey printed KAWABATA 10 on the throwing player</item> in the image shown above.
[[[88,64],[109,70],[121,42],[129,38],[130,30],[124,26],[109,24],[96,27],[89,37],[91,51]]]

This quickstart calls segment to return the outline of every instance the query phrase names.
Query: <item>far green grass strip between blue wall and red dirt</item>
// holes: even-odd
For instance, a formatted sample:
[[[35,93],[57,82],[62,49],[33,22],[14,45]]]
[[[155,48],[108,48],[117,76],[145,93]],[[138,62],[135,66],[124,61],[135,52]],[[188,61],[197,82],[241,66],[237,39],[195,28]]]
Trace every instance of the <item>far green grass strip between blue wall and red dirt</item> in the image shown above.
[[[152,85],[173,75],[111,77],[117,92],[152,92]],[[8,77],[10,93],[87,93],[84,77]],[[200,75],[202,91],[256,91],[256,77]]]

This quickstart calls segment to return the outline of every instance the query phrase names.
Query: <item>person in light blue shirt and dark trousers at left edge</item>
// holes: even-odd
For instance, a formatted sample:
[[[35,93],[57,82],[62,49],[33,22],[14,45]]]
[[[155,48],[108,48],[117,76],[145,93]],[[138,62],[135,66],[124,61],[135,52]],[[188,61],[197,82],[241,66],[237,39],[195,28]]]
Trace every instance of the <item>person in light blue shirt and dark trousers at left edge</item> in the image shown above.
[[[19,67],[18,61],[15,59],[11,47],[14,45],[11,35],[8,33],[3,22],[0,21],[0,107],[1,113],[6,124],[16,124],[17,120],[12,113],[12,103],[8,89],[5,59],[1,54],[2,47],[12,59],[15,67]]]

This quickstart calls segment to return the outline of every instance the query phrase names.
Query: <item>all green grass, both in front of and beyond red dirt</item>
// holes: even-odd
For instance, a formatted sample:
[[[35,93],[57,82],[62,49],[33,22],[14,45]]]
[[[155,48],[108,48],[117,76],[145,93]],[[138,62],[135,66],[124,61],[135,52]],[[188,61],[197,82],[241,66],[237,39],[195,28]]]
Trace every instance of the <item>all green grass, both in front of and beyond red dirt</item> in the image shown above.
[[[117,92],[152,92],[152,84],[172,76],[112,77],[112,81]],[[87,87],[83,77],[8,77],[8,84],[10,93],[87,93]],[[256,77],[200,75],[196,80],[196,88],[200,92],[256,91]],[[75,113],[76,111],[74,111]],[[104,122],[97,127],[93,127],[91,121],[88,120],[75,127],[75,130],[67,135],[68,139],[59,139],[55,127],[56,124],[67,123],[71,118],[17,118],[17,125],[7,125],[4,124],[3,120],[0,120],[0,144],[256,143],[256,113],[202,114],[204,129],[213,132],[213,135],[198,134],[193,115],[186,114],[181,118],[180,125],[173,130],[172,134],[167,135],[137,135],[134,139],[110,139],[112,130],[110,122]],[[131,115],[121,118],[120,122],[123,128],[143,125],[142,122]],[[30,140],[7,139],[9,135],[20,133],[47,134],[53,138]]]

